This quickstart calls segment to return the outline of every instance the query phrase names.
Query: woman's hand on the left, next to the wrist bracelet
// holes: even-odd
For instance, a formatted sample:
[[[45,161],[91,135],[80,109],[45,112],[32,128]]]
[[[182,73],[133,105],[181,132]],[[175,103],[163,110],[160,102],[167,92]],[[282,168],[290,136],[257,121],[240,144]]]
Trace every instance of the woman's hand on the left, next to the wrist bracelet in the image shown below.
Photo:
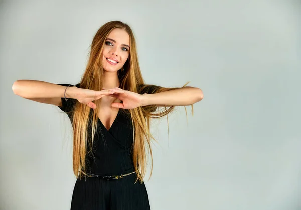
[[[77,99],[80,103],[86,104],[87,106],[91,107],[92,109],[96,108],[96,104],[92,101],[98,100],[106,95],[114,94],[111,89],[107,90],[90,90],[90,89],[83,89],[83,88],[76,88],[75,89],[75,99]]]

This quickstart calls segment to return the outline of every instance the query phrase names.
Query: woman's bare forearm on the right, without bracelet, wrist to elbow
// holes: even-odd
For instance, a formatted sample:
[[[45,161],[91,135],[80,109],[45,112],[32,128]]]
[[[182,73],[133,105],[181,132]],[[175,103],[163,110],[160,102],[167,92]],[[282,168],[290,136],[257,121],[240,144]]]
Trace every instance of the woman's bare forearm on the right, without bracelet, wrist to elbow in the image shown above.
[[[175,90],[154,94],[143,94],[141,106],[186,106],[199,102],[203,99],[203,91],[196,87],[182,87]]]

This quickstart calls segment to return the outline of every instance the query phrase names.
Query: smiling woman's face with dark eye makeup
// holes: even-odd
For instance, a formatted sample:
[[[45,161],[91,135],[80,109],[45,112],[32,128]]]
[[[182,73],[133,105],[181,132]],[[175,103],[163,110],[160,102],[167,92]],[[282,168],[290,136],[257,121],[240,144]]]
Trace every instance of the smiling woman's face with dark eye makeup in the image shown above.
[[[116,72],[129,55],[129,35],[122,29],[113,29],[107,36],[101,53],[104,70]]]

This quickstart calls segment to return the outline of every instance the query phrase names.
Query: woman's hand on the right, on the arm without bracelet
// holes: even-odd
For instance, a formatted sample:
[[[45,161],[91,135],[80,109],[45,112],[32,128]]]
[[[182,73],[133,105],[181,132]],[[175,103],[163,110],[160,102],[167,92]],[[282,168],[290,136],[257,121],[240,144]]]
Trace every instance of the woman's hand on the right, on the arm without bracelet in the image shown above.
[[[122,108],[122,109],[134,109],[136,107],[142,106],[142,95],[131,92],[128,90],[123,90],[118,87],[110,89],[114,94],[108,96],[115,97],[121,100],[123,103],[112,103],[112,107]]]

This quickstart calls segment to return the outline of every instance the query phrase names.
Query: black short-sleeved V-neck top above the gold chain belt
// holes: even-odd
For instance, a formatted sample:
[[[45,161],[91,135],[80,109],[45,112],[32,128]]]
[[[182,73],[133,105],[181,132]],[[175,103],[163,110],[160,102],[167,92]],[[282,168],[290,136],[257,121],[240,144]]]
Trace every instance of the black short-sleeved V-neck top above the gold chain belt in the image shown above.
[[[71,84],[59,84],[62,86],[77,86]],[[62,106],[58,106],[66,112],[72,121],[72,108],[77,100],[61,98]],[[90,116],[92,116],[91,109]],[[91,128],[88,129],[91,132]],[[120,175],[135,171],[133,165],[133,129],[130,113],[126,109],[119,109],[118,114],[109,130],[105,128],[100,119],[97,120],[97,131],[94,136],[92,154],[87,148],[86,166],[87,172],[97,175]]]

